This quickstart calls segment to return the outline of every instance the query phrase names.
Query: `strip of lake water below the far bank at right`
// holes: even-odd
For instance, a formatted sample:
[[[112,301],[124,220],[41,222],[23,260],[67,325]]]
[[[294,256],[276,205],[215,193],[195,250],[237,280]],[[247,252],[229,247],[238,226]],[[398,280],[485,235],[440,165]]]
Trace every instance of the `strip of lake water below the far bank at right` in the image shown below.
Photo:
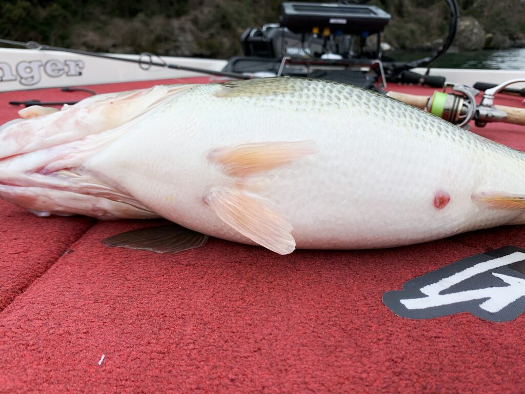
[[[428,53],[388,53],[398,61],[409,61],[429,56]],[[446,53],[432,63],[440,68],[485,68],[492,70],[525,70],[525,48],[478,50],[464,53]]]

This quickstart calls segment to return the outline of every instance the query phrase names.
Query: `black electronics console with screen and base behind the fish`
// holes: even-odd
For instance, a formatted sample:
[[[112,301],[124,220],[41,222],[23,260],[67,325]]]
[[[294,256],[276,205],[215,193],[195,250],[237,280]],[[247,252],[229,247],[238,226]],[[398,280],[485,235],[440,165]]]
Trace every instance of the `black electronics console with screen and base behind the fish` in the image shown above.
[[[243,55],[224,69],[255,76],[302,76],[366,88],[384,76],[381,32],[390,15],[369,5],[283,3],[279,24],[248,28]],[[376,35],[375,48],[367,39]],[[384,81],[384,78],[382,79]]]

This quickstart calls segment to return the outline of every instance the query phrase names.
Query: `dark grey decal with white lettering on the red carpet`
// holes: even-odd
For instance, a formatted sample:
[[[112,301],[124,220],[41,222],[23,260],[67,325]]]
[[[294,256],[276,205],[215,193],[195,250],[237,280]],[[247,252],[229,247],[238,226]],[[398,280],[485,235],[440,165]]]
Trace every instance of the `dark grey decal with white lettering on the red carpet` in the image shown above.
[[[525,312],[525,249],[506,246],[464,258],[385,293],[383,303],[410,319],[469,312],[509,322]]]

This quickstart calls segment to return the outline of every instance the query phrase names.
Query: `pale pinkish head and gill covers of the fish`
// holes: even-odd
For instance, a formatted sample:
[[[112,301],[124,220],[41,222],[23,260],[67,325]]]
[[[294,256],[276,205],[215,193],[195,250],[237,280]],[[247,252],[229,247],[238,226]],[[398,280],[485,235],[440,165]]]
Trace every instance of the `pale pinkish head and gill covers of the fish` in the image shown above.
[[[0,127],[0,198],[39,216],[158,217],[82,164],[122,137],[130,123],[185,86],[93,96],[73,106],[28,107]]]

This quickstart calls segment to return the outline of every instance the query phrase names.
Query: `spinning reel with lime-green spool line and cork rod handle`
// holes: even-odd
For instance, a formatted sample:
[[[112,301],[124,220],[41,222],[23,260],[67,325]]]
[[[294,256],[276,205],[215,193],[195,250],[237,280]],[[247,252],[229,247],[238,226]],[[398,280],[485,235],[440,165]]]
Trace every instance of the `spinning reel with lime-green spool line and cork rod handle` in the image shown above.
[[[488,122],[507,122],[525,126],[525,109],[494,105],[494,96],[507,86],[525,79],[511,79],[500,85],[485,90],[480,103],[476,103],[479,90],[466,86],[445,84],[444,91],[435,91],[430,97],[407,95],[398,92],[388,92],[387,96],[404,101],[410,105],[433,113],[435,116],[454,123],[459,127],[468,128],[471,120],[477,127],[484,127]],[[447,93],[447,87],[450,92]]]

